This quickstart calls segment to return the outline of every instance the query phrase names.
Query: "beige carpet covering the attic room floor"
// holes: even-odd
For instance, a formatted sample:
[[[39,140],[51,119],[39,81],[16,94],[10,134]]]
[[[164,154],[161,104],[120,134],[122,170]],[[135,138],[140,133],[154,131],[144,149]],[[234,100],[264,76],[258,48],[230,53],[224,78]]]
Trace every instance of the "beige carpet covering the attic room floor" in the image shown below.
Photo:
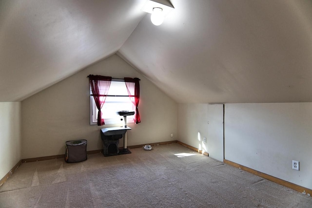
[[[0,188],[0,208],[312,208],[312,197],[178,144],[131,151],[24,163]]]

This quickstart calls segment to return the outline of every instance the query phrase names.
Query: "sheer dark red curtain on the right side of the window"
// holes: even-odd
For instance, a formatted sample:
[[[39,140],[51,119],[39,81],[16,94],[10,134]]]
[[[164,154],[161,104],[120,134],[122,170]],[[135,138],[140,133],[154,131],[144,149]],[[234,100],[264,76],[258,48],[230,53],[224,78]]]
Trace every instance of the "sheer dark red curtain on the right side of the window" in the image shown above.
[[[138,113],[138,103],[140,101],[140,84],[139,84],[139,78],[124,78],[126,87],[128,90],[128,95],[130,97],[131,102],[136,106],[136,117],[135,117],[135,123],[138,124],[141,122],[140,114]],[[131,90],[131,91],[130,91]],[[131,92],[134,92],[134,95],[131,95]]]

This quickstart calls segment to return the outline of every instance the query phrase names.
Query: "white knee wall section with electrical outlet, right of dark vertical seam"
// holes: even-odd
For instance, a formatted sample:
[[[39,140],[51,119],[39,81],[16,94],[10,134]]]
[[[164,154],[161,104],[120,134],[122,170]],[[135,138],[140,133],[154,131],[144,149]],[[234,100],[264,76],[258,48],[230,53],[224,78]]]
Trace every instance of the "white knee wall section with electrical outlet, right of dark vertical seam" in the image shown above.
[[[225,105],[225,159],[312,189],[311,150],[312,103]]]

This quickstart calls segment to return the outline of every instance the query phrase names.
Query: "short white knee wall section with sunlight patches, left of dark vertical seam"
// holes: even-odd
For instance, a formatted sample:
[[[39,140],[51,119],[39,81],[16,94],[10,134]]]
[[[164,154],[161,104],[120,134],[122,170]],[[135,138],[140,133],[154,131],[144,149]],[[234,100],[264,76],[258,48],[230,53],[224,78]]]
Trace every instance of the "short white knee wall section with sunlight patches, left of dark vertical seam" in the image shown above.
[[[203,137],[206,137],[206,143]],[[178,138],[223,161],[223,104],[179,103]]]

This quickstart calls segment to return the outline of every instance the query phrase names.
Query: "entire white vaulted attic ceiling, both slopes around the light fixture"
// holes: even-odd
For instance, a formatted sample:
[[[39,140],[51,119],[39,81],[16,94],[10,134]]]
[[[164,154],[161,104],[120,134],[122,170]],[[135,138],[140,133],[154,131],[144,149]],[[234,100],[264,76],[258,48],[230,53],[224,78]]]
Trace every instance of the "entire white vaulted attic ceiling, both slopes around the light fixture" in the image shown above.
[[[311,0],[0,0],[0,101],[117,53],[177,102],[312,102]]]

